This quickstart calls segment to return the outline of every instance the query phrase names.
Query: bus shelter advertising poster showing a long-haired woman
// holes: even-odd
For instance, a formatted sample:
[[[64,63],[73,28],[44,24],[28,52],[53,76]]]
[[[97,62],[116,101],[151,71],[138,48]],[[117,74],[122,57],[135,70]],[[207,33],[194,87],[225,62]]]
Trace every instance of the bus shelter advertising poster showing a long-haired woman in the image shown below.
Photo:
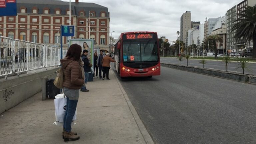
[[[88,50],[87,58],[91,61],[93,65],[93,39],[70,39],[69,45],[79,44],[83,50]]]

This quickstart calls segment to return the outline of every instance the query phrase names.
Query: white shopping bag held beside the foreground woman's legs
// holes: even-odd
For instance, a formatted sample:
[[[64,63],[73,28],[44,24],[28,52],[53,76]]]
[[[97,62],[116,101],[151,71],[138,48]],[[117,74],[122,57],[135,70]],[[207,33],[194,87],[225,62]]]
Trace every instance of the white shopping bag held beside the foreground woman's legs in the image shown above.
[[[55,96],[54,105],[55,105],[55,119],[56,121],[53,123],[55,125],[63,125],[63,119],[66,111],[67,98],[64,94],[58,94]],[[71,125],[75,125],[74,122],[76,120],[76,112],[73,117]]]

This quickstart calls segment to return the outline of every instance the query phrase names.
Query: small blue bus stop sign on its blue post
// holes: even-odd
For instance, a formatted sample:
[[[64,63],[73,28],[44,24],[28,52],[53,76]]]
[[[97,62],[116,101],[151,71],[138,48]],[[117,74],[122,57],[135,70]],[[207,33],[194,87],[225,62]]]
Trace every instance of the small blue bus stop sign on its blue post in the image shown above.
[[[61,59],[62,59],[62,37],[63,36],[75,36],[75,26],[61,25],[61,33],[60,33],[60,58]]]

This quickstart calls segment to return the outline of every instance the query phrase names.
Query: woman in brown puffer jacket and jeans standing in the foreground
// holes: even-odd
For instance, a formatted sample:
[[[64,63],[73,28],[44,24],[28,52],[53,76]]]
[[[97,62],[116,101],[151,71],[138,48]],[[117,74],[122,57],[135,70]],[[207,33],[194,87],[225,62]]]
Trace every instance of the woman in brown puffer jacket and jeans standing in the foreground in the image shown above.
[[[61,65],[64,73],[63,92],[67,96],[67,106],[64,115],[63,138],[64,141],[78,140],[80,137],[75,132],[71,132],[71,122],[76,111],[79,98],[79,89],[84,84],[84,72],[81,67],[83,62],[80,60],[82,48],[78,44],[72,44]]]

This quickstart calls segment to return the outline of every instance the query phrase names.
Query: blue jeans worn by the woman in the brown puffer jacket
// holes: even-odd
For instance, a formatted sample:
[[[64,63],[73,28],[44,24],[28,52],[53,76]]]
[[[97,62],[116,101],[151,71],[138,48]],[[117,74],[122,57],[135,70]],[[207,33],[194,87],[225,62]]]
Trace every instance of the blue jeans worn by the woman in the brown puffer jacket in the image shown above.
[[[67,96],[66,111],[63,119],[63,128],[65,131],[71,131],[71,123],[76,112],[76,106],[79,98],[79,90],[63,88]]]

